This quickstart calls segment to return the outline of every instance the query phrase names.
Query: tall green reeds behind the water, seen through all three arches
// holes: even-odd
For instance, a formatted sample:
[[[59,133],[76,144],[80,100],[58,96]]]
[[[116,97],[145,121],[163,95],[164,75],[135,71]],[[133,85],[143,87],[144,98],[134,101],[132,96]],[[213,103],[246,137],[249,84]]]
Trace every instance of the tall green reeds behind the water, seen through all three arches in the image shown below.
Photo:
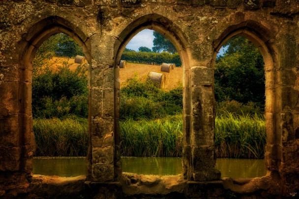
[[[265,119],[259,115],[225,113],[215,119],[217,157],[263,158]],[[36,155],[85,156],[88,147],[86,119],[34,119]],[[120,121],[120,149],[124,156],[181,156],[181,115],[162,119]]]

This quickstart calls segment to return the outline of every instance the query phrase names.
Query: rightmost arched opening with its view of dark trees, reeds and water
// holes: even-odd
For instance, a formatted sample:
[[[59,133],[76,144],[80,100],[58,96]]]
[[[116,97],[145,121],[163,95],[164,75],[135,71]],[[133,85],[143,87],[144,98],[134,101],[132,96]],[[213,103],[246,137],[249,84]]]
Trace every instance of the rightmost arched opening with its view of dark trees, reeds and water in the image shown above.
[[[234,36],[217,53],[214,71],[216,169],[222,177],[262,177],[267,174],[263,56],[245,37]]]

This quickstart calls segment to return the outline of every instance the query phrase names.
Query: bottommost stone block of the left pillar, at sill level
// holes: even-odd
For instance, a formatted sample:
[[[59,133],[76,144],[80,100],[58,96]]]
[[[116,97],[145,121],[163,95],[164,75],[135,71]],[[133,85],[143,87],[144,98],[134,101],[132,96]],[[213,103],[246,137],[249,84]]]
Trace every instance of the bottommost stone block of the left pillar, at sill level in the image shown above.
[[[91,169],[92,181],[107,182],[114,179],[113,165],[93,164]]]

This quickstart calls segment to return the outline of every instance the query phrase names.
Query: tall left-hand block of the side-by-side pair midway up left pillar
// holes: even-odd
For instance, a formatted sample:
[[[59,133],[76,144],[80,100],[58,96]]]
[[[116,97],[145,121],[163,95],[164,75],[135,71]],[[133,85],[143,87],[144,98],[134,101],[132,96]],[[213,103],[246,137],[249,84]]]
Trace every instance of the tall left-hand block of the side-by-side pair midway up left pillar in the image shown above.
[[[103,116],[103,90],[92,87],[90,96],[90,116],[91,118]]]

